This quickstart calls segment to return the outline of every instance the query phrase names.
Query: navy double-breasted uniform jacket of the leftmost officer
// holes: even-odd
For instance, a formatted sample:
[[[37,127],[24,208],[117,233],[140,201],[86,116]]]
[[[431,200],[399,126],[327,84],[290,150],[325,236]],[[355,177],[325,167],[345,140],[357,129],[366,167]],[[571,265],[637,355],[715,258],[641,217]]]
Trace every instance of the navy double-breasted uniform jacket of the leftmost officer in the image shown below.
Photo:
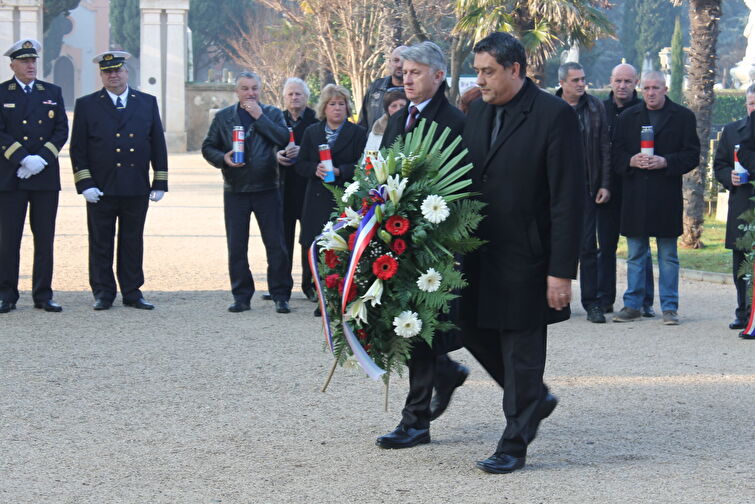
[[[59,191],[58,153],[68,140],[68,117],[58,86],[37,80],[26,95],[16,79],[0,84],[0,191]],[[16,176],[21,161],[41,156],[47,166],[28,179]]]

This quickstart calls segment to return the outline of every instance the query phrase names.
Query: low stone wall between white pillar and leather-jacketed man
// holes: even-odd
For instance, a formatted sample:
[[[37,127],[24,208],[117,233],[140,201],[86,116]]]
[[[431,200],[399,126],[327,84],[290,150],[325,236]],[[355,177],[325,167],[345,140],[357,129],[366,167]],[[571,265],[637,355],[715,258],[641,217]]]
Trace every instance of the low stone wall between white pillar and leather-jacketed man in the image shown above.
[[[186,83],[187,150],[201,149],[215,112],[236,101],[233,84]]]

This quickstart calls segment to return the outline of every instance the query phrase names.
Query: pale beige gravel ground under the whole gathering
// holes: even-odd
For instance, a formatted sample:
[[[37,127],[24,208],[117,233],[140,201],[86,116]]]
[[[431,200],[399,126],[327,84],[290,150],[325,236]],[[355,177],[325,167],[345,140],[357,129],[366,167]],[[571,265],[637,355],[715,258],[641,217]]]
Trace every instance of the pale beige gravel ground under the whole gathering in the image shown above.
[[[550,331],[547,380],[561,398],[525,470],[474,467],[502,429],[500,392],[472,368],[433,442],[383,451],[405,378],[383,388],[330,366],[314,305],[226,311],[220,174],[171,158],[152,204],[145,296],[153,312],[94,312],[83,199],[64,163],[56,241],[61,314],[31,306],[31,236],[18,309],[0,315],[0,500],[8,503],[749,503],[755,342],[726,328],[733,287],[683,281],[682,325]],[[254,272],[264,285],[259,237]],[[297,284],[298,289],[298,284]],[[576,296],[578,297],[578,296]],[[656,305],[656,309],[657,305]]]

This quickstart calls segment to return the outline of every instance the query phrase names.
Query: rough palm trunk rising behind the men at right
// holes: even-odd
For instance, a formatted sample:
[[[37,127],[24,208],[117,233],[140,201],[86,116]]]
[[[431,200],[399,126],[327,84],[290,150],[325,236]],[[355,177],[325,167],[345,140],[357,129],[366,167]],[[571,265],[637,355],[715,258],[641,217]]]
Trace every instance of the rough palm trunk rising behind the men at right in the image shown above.
[[[687,106],[697,117],[700,138],[700,164],[684,176],[684,228],[681,246],[701,248],[705,216],[705,171],[708,138],[713,111],[713,84],[716,77],[716,41],[721,18],[721,0],[691,0],[689,4],[690,50]]]

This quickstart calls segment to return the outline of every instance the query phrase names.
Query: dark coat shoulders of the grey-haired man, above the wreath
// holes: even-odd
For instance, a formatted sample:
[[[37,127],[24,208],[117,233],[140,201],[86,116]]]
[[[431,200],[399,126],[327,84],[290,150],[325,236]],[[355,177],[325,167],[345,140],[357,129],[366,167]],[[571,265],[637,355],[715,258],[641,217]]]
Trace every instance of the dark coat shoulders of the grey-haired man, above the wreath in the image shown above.
[[[422,112],[420,112],[419,116],[417,117],[414,126],[409,131],[416,128],[422,119],[426,119],[428,124],[425,126],[425,131],[427,131],[427,128],[430,126],[429,123],[438,123],[438,128],[435,131],[435,138],[439,137],[440,134],[443,133],[443,130],[446,129],[446,127],[451,128],[451,134],[448,136],[449,141],[461,135],[461,132],[464,131],[466,117],[461,112],[461,110],[457,109],[448,102],[445,92],[446,83],[443,82],[440,85],[440,88],[438,88],[438,91],[430,100],[430,103],[428,103],[427,106],[422,109]],[[383,139],[380,142],[381,148],[390,147],[398,137],[409,133],[409,131],[404,131],[404,128],[406,127],[406,120],[409,117],[410,106],[411,102],[388,119],[388,126],[386,126],[385,128]],[[463,144],[460,144],[457,152],[461,152],[461,150],[463,149]],[[464,164],[465,162],[462,162],[460,166],[463,166]]]

